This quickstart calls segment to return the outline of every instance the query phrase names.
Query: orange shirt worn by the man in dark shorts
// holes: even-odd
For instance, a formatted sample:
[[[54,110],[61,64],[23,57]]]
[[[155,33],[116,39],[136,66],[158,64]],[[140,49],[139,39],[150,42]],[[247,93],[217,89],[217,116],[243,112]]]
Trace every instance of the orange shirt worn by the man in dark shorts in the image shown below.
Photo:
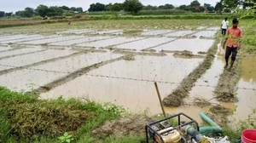
[[[239,46],[239,40],[242,37],[242,31],[240,27],[237,27],[234,29],[233,27],[230,27],[227,31],[228,36],[228,47],[234,47],[237,48]]]

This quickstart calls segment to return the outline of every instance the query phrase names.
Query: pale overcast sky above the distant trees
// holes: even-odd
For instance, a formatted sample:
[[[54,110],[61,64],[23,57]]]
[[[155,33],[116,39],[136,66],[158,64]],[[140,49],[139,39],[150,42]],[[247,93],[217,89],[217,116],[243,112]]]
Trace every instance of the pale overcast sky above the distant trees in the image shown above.
[[[82,7],[84,10],[89,9],[91,3],[122,3],[124,0],[1,0],[0,11],[10,12],[22,10],[26,7],[37,8],[39,4],[48,6]],[[171,3],[174,6],[189,4],[192,0],[140,0],[144,5],[161,5]],[[215,6],[218,0],[199,0],[200,3],[210,3]]]

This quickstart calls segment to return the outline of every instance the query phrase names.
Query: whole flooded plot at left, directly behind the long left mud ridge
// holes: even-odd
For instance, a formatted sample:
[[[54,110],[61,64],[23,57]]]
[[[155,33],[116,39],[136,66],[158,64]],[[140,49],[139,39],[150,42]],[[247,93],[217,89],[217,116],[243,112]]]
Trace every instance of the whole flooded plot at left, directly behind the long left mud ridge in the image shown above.
[[[22,70],[17,72],[10,72],[3,76],[0,76],[0,85],[6,86],[9,89],[14,89],[15,91],[20,90],[31,90],[37,89],[46,83],[51,83],[60,77],[67,76],[67,73],[60,72],[74,72],[82,67],[90,66],[99,63],[103,60],[110,60],[121,56],[120,54],[83,54],[75,56],[66,60],[58,60],[56,62],[46,63],[42,66],[34,66],[33,69],[42,69],[49,71],[59,71],[55,72],[42,72],[37,70]],[[1,66],[0,66],[1,68]],[[19,81],[19,82],[17,82]]]

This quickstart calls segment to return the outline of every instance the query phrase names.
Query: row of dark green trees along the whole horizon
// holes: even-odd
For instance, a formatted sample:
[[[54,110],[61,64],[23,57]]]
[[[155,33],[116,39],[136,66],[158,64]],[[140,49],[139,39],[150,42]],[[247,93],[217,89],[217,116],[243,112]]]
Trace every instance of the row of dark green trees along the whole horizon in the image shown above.
[[[125,11],[131,14],[137,14],[140,10],[157,10],[157,9],[181,9],[191,12],[227,12],[229,13],[231,9],[243,8],[247,9],[248,7],[253,7],[256,0],[220,0],[216,3],[215,6],[212,6],[209,3],[201,4],[197,0],[192,1],[189,5],[180,5],[179,7],[173,6],[171,3],[166,3],[165,5],[152,6],[140,3],[139,0],[125,0],[124,3],[92,3],[90,4],[90,9],[86,12],[102,12],[102,11]],[[9,17],[12,15],[27,17],[32,16],[61,16],[61,15],[73,15],[76,13],[83,13],[82,8],[67,7],[67,6],[45,6],[39,5],[37,9],[26,8],[24,10],[17,11],[15,14],[13,12],[5,13],[0,11],[0,17]]]

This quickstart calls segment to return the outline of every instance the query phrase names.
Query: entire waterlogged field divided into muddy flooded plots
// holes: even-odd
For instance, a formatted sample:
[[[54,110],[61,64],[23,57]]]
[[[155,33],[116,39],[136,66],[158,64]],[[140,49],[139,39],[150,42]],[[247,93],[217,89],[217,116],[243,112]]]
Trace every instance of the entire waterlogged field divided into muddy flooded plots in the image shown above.
[[[16,91],[37,90],[42,99],[63,96],[109,101],[131,112],[153,115],[161,112],[154,82],[164,99],[183,85],[186,77],[200,74],[189,77],[194,83],[184,99],[186,105],[165,107],[168,113],[185,112],[200,120],[198,112],[207,112],[210,106],[195,106],[193,99],[215,97],[224,72],[224,55],[217,42],[219,27],[215,20],[211,25],[207,20],[187,21],[173,20],[166,25],[158,21],[149,24],[147,20],[140,25],[138,21],[101,21],[95,25],[89,21],[84,25],[73,22],[70,27],[51,24],[2,29],[0,85]],[[209,66],[206,72],[195,73],[212,49],[218,50],[204,65]],[[242,59],[242,69],[249,70],[241,72],[236,85],[238,102],[211,100],[231,109],[238,119],[245,119],[256,107],[255,59]]]

